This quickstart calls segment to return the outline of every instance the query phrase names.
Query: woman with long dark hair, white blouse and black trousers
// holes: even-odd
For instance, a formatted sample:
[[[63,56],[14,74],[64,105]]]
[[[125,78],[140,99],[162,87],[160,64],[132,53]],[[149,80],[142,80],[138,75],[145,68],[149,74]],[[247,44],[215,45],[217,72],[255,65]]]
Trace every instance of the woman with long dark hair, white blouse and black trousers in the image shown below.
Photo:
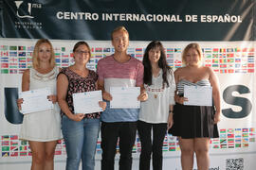
[[[153,153],[153,169],[162,169],[162,145],[166,130],[173,126],[174,73],[167,65],[161,42],[150,42],[143,57],[144,88],[148,100],[141,102],[138,135],[141,142],[139,169],[149,170]],[[153,141],[152,133],[153,130]]]

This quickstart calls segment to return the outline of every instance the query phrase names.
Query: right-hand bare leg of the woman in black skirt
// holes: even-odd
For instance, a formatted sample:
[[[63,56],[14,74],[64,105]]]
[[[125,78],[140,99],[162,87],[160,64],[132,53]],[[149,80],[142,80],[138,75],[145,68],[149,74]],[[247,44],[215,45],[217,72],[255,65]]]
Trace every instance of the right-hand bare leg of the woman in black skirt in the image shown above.
[[[194,151],[196,155],[198,170],[208,170],[210,166],[209,159],[210,138],[195,138]]]

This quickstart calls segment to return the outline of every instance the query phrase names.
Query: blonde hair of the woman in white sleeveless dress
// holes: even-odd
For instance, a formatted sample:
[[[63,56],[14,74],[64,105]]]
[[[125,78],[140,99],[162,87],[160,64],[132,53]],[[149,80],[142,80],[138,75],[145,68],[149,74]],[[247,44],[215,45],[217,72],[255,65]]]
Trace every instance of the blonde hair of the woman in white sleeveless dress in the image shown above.
[[[43,43],[48,43],[50,45],[50,66],[54,67],[55,66],[55,55],[54,55],[54,50],[52,47],[51,42],[49,42],[47,39],[40,39],[39,41],[36,42],[34,46],[34,51],[32,55],[32,65],[34,69],[39,68],[39,59],[38,59],[38,53],[39,53],[39,46]]]

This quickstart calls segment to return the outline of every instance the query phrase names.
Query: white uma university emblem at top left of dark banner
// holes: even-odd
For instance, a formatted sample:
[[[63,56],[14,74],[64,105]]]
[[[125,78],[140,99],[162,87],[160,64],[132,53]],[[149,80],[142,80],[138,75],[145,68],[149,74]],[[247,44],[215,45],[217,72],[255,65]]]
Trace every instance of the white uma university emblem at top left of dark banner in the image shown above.
[[[32,8],[42,8],[41,4],[32,4],[32,3],[25,4],[24,3],[25,5],[22,5],[23,1],[14,1],[14,2],[17,7],[16,15],[19,18],[34,18],[34,16],[32,16]],[[26,12],[26,10],[27,10],[27,12]],[[27,14],[20,15],[19,11],[23,11],[23,13],[26,12]]]

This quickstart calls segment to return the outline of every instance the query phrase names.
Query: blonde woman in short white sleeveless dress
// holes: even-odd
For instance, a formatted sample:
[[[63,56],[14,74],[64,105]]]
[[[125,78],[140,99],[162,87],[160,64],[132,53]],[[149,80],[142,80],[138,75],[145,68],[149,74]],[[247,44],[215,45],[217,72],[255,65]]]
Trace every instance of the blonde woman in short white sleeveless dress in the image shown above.
[[[55,56],[51,42],[41,39],[36,42],[32,56],[32,68],[25,70],[22,76],[22,92],[49,88],[48,100],[53,109],[25,114],[21,126],[20,140],[27,140],[31,149],[31,170],[54,169],[54,153],[57,141],[62,139],[60,108],[57,104],[56,77],[59,68],[55,65]],[[23,99],[17,101],[19,110]]]

